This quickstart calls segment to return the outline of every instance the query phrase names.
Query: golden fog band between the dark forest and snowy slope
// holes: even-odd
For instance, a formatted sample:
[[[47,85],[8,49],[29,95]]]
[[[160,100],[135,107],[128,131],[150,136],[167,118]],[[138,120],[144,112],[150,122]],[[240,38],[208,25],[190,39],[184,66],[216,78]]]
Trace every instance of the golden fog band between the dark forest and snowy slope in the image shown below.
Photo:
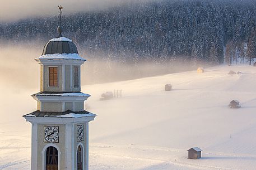
[[[16,90],[37,88],[39,91],[40,67],[34,59],[41,56],[44,43],[46,42],[31,42],[24,45],[2,43],[0,45],[0,59],[4,62],[0,63],[1,85]],[[82,65],[82,85],[131,80],[193,69],[189,62],[179,62],[178,60],[175,64],[156,63],[155,61],[124,64],[118,60],[101,60],[97,56],[88,56],[81,47],[78,48],[78,52],[87,60]],[[207,64],[198,66],[203,65],[206,66]]]

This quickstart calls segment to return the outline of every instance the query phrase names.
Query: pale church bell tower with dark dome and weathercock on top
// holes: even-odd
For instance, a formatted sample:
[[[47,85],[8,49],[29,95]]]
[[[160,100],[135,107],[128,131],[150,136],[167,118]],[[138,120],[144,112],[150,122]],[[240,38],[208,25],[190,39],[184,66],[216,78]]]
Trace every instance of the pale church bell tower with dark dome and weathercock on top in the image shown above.
[[[59,6],[60,24],[61,10]],[[84,110],[89,94],[81,93],[81,65],[86,60],[75,43],[59,36],[44,46],[40,64],[40,92],[31,95],[38,110],[24,115],[32,124],[32,170],[88,170],[89,122],[95,114]]]

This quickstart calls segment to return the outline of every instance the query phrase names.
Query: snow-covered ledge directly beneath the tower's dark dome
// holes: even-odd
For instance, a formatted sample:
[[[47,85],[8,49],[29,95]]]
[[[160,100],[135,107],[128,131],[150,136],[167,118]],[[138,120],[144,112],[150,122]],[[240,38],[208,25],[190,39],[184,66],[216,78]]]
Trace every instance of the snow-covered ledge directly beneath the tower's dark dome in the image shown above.
[[[86,61],[85,59],[83,59],[82,57],[80,57],[80,55],[73,53],[73,54],[46,54],[43,56],[40,56],[37,59],[64,59],[64,60],[82,60],[82,61]]]

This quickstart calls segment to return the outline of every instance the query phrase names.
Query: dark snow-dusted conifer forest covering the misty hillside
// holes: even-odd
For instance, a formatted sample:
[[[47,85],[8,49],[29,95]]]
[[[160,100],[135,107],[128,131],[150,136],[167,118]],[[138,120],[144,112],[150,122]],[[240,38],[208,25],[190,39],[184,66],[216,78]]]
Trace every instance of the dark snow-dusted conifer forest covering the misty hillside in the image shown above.
[[[256,57],[255,1],[147,1],[64,16],[64,36],[88,56],[107,63],[211,65]],[[58,17],[0,23],[2,41],[46,43],[57,36]],[[225,55],[225,57],[224,57]],[[171,71],[171,69],[169,70]]]

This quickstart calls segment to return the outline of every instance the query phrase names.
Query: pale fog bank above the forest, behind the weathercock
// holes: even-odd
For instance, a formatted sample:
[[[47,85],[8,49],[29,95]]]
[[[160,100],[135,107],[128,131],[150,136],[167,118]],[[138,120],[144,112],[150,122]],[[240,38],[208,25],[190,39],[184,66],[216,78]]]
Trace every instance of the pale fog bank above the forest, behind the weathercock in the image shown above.
[[[0,22],[17,21],[22,18],[51,16],[58,14],[58,5],[64,7],[65,14],[105,9],[117,4],[134,2],[134,0],[57,0],[57,1],[1,1]]]

